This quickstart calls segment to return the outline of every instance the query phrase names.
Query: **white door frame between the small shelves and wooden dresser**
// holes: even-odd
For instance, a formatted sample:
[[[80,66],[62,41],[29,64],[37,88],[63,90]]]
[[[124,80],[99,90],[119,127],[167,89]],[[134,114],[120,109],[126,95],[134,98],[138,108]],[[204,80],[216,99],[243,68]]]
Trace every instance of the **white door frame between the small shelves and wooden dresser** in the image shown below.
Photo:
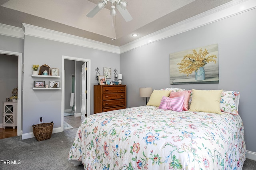
[[[84,59],[84,58],[78,58],[78,57],[70,57],[70,56],[65,56],[62,55],[62,77],[61,77],[61,131],[63,131],[63,123],[64,123],[64,84],[65,84],[65,75],[64,75],[64,67],[65,67],[65,59],[69,59],[69,60],[74,60],[74,61],[82,61],[82,62],[87,62],[87,100],[86,100],[86,113],[91,113],[91,60],[90,59]]]

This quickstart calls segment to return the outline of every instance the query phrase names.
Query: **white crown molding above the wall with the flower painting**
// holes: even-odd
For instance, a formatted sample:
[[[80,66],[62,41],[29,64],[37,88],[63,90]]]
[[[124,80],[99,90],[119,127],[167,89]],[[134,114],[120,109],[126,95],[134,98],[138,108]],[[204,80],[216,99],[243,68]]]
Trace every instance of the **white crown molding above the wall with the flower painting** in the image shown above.
[[[162,30],[144,36],[138,40],[127,43],[120,46],[120,53],[130,51],[132,49],[147,45],[152,42],[162,40],[171,36],[175,36],[182,32],[198,28],[216,22],[248,10],[256,8],[256,0],[233,0],[222,6],[218,6],[212,10],[208,10],[197,16],[191,17],[187,20],[174,24],[172,26],[166,27]]]

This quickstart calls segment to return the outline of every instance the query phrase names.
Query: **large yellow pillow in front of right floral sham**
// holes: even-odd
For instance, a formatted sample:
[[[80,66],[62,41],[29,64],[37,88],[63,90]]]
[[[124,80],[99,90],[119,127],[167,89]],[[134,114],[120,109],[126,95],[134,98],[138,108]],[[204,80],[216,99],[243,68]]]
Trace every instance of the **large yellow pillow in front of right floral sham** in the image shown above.
[[[220,111],[220,95],[223,90],[192,89],[192,101],[189,111],[222,114]]]

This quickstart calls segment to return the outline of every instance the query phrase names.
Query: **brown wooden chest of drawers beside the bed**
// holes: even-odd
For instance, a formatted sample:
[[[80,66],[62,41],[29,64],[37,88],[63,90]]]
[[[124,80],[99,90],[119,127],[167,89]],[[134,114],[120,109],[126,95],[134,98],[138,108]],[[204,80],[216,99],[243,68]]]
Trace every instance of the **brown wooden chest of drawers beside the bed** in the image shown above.
[[[126,85],[94,85],[94,113],[126,108]]]

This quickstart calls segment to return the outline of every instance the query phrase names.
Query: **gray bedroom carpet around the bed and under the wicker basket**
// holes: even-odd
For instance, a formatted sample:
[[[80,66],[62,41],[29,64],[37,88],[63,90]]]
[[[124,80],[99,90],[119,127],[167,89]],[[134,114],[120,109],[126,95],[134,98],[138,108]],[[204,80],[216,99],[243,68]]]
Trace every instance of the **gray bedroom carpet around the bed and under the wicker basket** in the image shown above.
[[[10,161],[0,162],[0,170],[83,170],[84,166],[73,166],[67,160],[77,129],[54,133],[40,142],[36,138],[21,140],[21,136],[0,139],[0,160]],[[256,170],[256,161],[246,159],[243,170]]]

